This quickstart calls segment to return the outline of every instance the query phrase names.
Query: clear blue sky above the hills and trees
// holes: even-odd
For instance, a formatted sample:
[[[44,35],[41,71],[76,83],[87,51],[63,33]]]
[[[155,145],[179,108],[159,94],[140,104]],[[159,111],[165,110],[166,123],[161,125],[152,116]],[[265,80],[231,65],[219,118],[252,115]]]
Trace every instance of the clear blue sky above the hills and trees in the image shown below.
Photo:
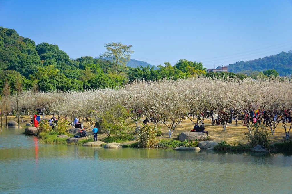
[[[292,50],[292,0],[0,0],[0,8],[0,26],[71,58],[99,56],[112,41],[152,65],[188,59],[207,68]]]

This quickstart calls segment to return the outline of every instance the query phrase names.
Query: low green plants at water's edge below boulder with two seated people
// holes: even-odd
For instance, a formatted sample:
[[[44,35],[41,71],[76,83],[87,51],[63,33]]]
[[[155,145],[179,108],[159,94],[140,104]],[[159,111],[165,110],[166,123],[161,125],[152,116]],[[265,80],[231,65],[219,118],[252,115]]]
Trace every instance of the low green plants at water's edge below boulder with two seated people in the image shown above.
[[[174,140],[174,139],[162,139],[162,140],[159,140],[158,145],[157,145],[158,148],[175,148],[175,147],[180,147],[180,146],[197,147],[198,141],[185,140],[181,142],[179,140]]]

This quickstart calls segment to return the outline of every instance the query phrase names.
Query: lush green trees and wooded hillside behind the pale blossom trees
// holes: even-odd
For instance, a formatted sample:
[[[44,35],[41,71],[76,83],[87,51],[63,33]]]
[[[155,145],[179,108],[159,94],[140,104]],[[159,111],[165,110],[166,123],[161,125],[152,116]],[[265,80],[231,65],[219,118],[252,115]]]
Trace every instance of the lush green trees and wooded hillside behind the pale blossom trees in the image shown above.
[[[117,71],[116,71],[117,68]],[[168,62],[152,66],[125,67],[116,65],[110,60],[81,56],[75,60],[57,45],[46,42],[36,45],[29,38],[18,35],[14,29],[0,27],[0,92],[8,82],[12,94],[17,90],[16,80],[21,83],[22,90],[31,90],[37,86],[40,91],[82,91],[98,88],[116,88],[132,81],[159,79],[181,79],[187,77],[207,76],[211,78],[239,78],[245,74],[232,72],[206,72],[202,63],[180,59],[175,65]],[[275,70],[267,76],[279,76]],[[265,77],[266,73],[258,72],[251,77]]]

